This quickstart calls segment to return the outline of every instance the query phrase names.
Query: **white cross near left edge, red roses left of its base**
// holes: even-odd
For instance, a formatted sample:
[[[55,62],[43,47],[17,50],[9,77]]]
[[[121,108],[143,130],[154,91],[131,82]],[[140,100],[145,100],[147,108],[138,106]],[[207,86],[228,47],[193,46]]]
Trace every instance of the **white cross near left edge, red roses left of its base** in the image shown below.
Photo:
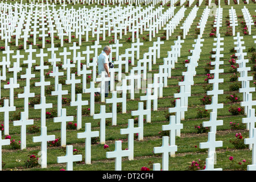
[[[27,119],[26,112],[20,112],[20,120],[19,121],[13,121],[13,126],[20,126],[20,150],[23,150],[26,148],[26,127],[27,125],[33,125],[34,120],[33,119]]]

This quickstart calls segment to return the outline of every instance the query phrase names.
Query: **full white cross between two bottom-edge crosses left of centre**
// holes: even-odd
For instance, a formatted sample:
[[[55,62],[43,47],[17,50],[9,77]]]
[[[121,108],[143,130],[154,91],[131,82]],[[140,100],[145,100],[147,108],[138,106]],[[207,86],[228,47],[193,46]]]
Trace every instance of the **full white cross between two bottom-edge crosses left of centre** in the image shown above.
[[[92,123],[85,123],[84,133],[77,133],[77,138],[85,138],[85,164],[91,164],[91,144],[92,138],[98,137],[98,131],[91,130]]]

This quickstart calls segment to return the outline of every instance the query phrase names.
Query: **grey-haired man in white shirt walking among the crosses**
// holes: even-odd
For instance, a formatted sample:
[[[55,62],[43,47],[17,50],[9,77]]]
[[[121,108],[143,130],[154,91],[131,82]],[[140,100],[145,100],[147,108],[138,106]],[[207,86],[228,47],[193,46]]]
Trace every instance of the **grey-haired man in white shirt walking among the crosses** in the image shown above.
[[[111,52],[111,48],[109,46],[105,46],[100,56],[98,56],[98,74],[100,75],[102,71],[105,71],[105,77],[110,77],[109,74],[109,53]],[[109,82],[105,82],[105,97],[108,97],[109,94]],[[96,95],[100,95],[100,93],[96,92]]]

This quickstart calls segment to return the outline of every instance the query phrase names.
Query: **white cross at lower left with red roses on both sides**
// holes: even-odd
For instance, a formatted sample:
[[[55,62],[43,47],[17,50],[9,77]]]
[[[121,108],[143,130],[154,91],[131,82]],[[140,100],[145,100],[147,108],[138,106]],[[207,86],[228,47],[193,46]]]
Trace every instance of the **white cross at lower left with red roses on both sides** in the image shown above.
[[[64,147],[66,145],[66,135],[67,135],[67,131],[66,131],[66,122],[68,121],[73,121],[73,116],[67,116],[67,111],[66,109],[61,109],[61,114],[60,117],[55,117],[53,118],[53,122],[60,122],[61,123],[61,147]]]

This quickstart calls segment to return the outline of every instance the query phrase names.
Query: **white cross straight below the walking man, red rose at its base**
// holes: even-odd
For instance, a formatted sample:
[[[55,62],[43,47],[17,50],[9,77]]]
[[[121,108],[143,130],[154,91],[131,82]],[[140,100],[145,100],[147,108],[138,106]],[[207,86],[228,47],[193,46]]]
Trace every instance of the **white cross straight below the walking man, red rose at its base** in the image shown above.
[[[106,106],[100,106],[100,113],[93,114],[93,119],[100,119],[100,143],[105,143],[106,118],[112,118],[112,113],[106,113]]]

